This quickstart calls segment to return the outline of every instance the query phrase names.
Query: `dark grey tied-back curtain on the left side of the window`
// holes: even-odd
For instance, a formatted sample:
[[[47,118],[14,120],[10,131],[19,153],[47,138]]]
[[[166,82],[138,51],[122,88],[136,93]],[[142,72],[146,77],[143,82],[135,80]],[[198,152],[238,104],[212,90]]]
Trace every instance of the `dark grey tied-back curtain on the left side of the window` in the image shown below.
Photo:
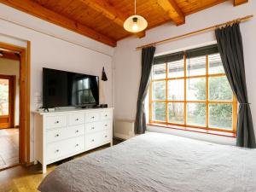
[[[146,117],[144,112],[145,97],[148,92],[149,77],[154,60],[154,47],[143,48],[142,51],[142,75],[137,97],[137,113],[135,120],[135,132],[137,134],[145,133]]]

